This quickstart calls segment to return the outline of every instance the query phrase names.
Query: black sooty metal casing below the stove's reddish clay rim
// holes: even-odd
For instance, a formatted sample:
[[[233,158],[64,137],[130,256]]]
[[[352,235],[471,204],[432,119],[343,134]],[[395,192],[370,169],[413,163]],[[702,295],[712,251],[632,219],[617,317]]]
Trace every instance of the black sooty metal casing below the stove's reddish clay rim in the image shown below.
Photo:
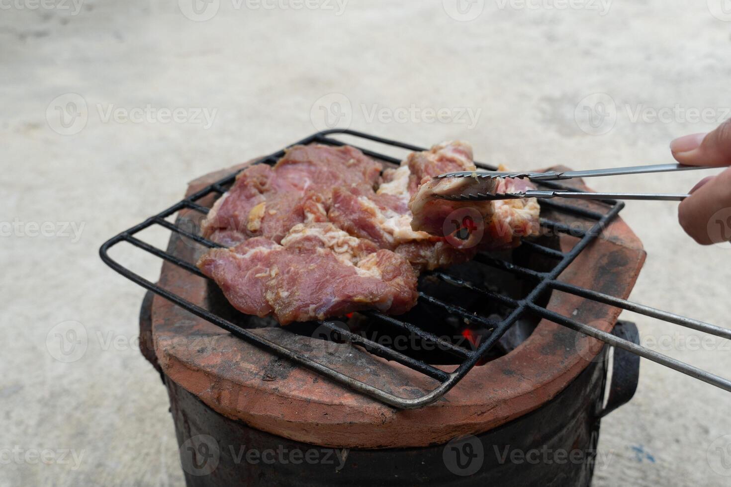
[[[150,298],[143,305],[146,330]],[[614,332],[637,341],[633,323],[620,322]],[[338,448],[291,440],[227,418],[162,377],[189,487],[589,486],[595,465],[606,467],[596,450],[601,418],[629,401],[637,386],[639,358],[613,350],[611,383],[605,387],[609,350],[603,348],[539,409],[488,432],[418,448]]]

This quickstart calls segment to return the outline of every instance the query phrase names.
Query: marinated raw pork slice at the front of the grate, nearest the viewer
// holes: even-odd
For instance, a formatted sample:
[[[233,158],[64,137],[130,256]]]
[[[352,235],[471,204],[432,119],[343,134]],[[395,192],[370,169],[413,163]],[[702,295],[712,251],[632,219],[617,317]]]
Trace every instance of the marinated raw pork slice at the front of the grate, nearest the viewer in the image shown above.
[[[369,308],[398,315],[417,300],[409,261],[330,223],[298,224],[281,245],[254,237],[214,249],[197,266],[237,310],[283,325]]]

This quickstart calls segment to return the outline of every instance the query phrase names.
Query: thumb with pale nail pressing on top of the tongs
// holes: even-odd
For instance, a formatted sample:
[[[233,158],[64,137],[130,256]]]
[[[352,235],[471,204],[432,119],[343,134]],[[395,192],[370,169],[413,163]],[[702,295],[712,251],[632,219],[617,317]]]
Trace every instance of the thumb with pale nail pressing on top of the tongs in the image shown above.
[[[731,120],[708,134],[693,134],[670,142],[673,157],[688,166],[731,165]]]

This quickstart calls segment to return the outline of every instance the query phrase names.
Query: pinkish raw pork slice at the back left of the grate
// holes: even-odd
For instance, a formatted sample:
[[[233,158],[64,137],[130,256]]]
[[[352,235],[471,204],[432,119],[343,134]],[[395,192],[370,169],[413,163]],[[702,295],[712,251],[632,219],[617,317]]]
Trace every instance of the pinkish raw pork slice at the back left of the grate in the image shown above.
[[[281,242],[298,223],[325,221],[333,188],[373,187],[381,169],[354,147],[291,147],[276,166],[256,164],[239,173],[203,221],[203,237],[222,245],[251,237]]]

